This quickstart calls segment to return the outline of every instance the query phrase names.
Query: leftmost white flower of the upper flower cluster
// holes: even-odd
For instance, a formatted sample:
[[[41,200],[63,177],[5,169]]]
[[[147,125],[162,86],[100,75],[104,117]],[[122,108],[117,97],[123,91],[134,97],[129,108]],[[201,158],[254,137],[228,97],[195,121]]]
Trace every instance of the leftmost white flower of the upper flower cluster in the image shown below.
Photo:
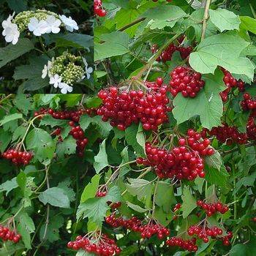
[[[11,21],[13,15],[9,15],[7,20],[1,23],[4,28],[1,34],[4,36],[6,42],[12,42],[12,45],[16,45],[20,37],[20,32],[18,31],[18,26]]]

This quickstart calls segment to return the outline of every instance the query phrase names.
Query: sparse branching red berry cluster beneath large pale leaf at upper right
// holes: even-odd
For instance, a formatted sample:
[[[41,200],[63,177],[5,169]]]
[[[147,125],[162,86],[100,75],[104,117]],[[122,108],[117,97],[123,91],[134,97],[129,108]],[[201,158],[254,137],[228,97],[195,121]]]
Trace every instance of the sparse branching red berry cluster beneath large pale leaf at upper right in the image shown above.
[[[228,72],[226,69],[222,68],[222,72],[224,73],[223,81],[227,86],[227,89],[222,91],[219,95],[222,97],[222,101],[226,102],[231,89],[237,87],[239,91],[244,91],[244,82],[242,80],[236,80],[236,78],[233,78],[230,72]]]

